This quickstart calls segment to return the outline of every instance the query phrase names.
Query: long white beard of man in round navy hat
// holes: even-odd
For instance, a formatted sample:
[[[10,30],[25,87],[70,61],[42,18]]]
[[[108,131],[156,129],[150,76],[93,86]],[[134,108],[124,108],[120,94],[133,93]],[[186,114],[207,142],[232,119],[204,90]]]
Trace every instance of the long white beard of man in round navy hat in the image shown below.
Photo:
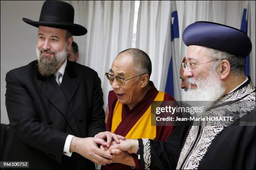
[[[218,100],[223,96],[225,92],[225,87],[223,82],[220,80],[219,76],[215,71],[211,71],[207,78],[203,80],[202,77],[199,77],[198,80],[188,77],[189,83],[188,91],[186,92],[186,101],[209,101],[205,109],[209,108],[213,102]],[[197,88],[191,89],[190,85],[195,84]]]

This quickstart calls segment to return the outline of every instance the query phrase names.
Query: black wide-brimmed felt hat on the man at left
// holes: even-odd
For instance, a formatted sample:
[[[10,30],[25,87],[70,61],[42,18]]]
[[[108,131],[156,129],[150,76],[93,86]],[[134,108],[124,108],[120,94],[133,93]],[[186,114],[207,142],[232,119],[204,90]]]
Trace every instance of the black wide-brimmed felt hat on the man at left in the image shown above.
[[[22,18],[25,23],[34,27],[46,26],[69,30],[72,35],[84,35],[87,29],[82,25],[74,24],[74,8],[67,2],[51,1],[44,2],[39,21]]]

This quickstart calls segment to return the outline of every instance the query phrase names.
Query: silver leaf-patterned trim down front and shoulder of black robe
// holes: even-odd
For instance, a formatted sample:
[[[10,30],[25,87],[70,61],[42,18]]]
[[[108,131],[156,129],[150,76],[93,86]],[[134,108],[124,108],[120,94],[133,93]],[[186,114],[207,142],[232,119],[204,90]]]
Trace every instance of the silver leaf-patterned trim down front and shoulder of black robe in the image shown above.
[[[255,87],[253,86],[253,83],[251,82],[250,78],[247,82],[241,85],[240,89],[238,88],[238,90],[235,90],[234,92],[231,92],[228,95],[223,96],[222,98],[220,98],[220,100],[216,102],[215,105],[220,105],[226,101],[235,100],[255,101]],[[254,105],[241,105],[239,111],[243,110],[243,114],[240,116],[245,115],[247,111],[250,111],[252,108],[255,108],[255,102],[253,103]],[[221,115],[221,111],[223,111],[223,109],[226,109],[225,105],[223,107],[211,109],[207,111],[206,114]],[[202,160],[202,158],[204,157],[208,147],[212,143],[212,140],[214,140],[215,137],[224,128],[224,126],[206,126],[205,124],[202,124],[202,126],[192,126],[191,129],[189,130],[188,137],[180,153],[176,169],[197,169],[200,164],[200,160]]]

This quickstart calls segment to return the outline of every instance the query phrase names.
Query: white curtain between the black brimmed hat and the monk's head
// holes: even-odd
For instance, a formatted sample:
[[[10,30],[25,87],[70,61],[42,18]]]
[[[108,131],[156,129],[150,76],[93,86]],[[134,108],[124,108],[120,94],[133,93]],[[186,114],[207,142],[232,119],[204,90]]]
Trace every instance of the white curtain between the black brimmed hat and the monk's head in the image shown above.
[[[79,46],[79,63],[97,71],[103,90],[104,109],[113,90],[105,77],[116,55],[131,48],[135,1],[67,1],[75,10],[74,23],[87,28],[74,37]]]

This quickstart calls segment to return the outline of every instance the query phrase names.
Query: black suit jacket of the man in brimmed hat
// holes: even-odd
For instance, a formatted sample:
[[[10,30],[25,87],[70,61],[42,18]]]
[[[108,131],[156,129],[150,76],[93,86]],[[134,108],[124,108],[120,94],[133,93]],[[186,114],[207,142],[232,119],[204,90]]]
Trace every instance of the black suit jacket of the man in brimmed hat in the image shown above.
[[[6,108],[13,135],[4,159],[29,161],[35,168],[95,168],[77,153],[63,154],[67,135],[94,137],[105,131],[97,72],[67,61],[61,86],[43,77],[37,60],[6,74]]]

